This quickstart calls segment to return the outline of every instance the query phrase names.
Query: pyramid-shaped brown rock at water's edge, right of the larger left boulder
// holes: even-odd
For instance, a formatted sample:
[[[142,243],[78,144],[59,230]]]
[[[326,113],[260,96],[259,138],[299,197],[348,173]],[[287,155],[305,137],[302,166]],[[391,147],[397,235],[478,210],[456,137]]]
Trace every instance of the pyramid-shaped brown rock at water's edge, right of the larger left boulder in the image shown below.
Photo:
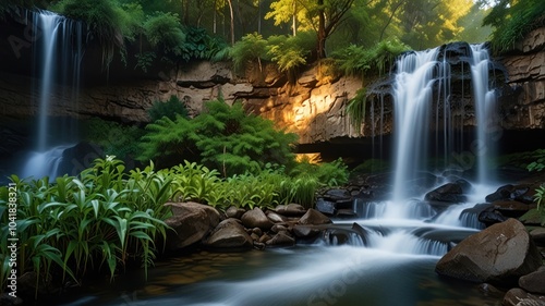
[[[253,241],[239,220],[229,218],[214,229],[204,245],[217,249],[249,249]]]

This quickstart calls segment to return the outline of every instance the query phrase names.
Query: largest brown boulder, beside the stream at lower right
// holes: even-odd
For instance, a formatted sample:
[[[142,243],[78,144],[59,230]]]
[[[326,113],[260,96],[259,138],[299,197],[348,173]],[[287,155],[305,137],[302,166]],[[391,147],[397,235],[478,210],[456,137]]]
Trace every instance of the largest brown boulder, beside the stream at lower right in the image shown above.
[[[512,285],[541,261],[524,225],[509,219],[460,242],[437,262],[435,271],[465,281]]]

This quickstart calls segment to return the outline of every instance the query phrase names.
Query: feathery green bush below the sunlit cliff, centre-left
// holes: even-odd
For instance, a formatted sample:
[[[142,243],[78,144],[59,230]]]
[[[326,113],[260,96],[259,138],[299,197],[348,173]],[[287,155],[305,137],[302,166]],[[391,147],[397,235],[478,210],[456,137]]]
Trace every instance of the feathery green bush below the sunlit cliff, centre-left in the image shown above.
[[[277,131],[272,121],[246,114],[242,105],[209,101],[189,120],[162,118],[146,126],[142,160],[164,166],[182,160],[218,169],[223,176],[257,171],[267,162],[290,164],[295,134]]]

